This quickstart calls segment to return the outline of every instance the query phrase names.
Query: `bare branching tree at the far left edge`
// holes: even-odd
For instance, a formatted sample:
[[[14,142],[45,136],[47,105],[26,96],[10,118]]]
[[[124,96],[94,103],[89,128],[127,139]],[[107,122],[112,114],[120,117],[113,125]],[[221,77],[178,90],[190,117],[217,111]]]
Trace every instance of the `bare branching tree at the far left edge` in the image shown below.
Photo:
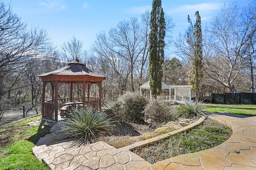
[[[10,6],[0,2],[0,102],[5,94],[10,98],[14,89],[27,86],[20,83],[26,65],[50,49],[45,30],[28,29]]]

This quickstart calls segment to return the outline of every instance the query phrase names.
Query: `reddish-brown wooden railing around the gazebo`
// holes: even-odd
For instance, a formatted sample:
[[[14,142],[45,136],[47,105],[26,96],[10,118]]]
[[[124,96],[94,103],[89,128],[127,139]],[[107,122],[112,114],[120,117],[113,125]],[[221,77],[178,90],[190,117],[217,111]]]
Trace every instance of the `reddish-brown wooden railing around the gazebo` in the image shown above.
[[[72,97],[72,100],[70,98],[61,98],[58,99],[58,109],[62,108],[65,106],[65,103],[69,102],[78,102],[82,101],[83,97]],[[88,97],[85,98],[86,101],[83,103],[85,107],[94,107],[94,108],[100,108],[101,107],[101,99],[99,97]],[[53,119],[55,116],[55,103],[54,99],[53,100],[48,100],[42,103],[43,109],[42,109],[42,116],[47,118],[47,119]],[[58,114],[58,113],[56,113]]]

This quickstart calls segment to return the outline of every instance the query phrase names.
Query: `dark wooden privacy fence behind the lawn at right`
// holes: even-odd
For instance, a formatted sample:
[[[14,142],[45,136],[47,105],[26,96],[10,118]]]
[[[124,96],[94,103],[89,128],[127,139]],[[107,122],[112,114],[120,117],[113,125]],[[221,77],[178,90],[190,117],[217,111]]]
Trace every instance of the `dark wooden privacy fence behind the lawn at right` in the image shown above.
[[[256,93],[224,93],[212,94],[212,103],[256,105]]]

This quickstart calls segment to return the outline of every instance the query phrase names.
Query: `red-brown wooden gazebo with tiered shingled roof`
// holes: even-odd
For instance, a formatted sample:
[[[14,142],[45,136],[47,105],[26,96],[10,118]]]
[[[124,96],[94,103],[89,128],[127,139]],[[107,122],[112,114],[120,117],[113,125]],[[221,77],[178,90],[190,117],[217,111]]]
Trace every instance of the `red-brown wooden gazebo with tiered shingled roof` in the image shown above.
[[[78,58],[68,63],[65,67],[38,76],[43,81],[42,118],[58,121],[58,109],[68,102],[81,101],[84,106],[101,109],[102,81],[106,77],[88,69]],[[48,83],[50,83],[52,87],[52,99],[45,101],[45,90]],[[70,87],[70,97],[58,99],[58,89],[63,84]],[[73,97],[73,87],[76,84],[82,87],[82,97]],[[90,97],[90,87],[93,84],[99,87],[98,97]]]

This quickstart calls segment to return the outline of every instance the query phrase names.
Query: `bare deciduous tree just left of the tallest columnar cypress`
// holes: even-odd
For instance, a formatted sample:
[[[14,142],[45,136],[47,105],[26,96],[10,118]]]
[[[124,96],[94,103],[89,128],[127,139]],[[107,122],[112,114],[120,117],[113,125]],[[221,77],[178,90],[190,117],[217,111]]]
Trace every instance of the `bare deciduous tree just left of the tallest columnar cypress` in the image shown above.
[[[104,32],[98,34],[92,46],[99,57],[102,56],[108,60],[120,78],[119,83],[122,84],[123,90],[126,90],[127,81],[130,78],[131,90],[134,91],[134,68],[144,47],[140,33],[138,19],[130,18],[128,21],[119,22],[116,28],[110,29],[108,36]],[[145,60],[143,59],[143,62]]]

